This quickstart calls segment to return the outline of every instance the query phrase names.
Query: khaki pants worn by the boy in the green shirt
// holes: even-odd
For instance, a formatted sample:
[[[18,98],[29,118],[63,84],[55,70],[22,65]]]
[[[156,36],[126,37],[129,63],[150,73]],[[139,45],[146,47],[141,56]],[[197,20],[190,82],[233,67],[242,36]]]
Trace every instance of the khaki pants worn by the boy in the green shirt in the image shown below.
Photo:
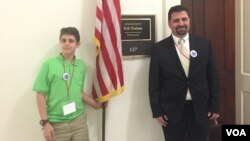
[[[56,141],[89,141],[87,116],[83,114],[71,122],[51,123]]]

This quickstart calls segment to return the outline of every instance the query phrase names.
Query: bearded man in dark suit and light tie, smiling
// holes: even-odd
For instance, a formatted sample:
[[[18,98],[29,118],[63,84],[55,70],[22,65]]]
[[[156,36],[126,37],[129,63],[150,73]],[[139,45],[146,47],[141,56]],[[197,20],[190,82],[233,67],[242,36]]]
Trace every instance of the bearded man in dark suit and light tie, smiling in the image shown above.
[[[219,78],[209,40],[189,34],[187,8],[168,12],[171,36],[153,46],[149,95],[153,117],[166,141],[208,141],[209,122],[219,117]],[[186,51],[184,51],[186,50]]]

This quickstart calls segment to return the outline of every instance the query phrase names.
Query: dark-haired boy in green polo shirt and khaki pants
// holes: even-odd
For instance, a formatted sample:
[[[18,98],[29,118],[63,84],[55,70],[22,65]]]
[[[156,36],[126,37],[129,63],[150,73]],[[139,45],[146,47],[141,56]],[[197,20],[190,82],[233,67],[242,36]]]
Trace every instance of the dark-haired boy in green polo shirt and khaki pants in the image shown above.
[[[61,53],[45,61],[37,75],[33,91],[46,141],[88,141],[87,119],[82,101],[98,109],[101,104],[83,92],[86,67],[75,57],[80,46],[74,27],[60,32]]]

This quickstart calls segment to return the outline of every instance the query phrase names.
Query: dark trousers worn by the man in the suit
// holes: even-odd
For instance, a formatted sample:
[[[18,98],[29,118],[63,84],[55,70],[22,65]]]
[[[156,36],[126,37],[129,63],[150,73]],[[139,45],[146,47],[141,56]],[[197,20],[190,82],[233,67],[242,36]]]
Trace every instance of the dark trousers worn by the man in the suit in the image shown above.
[[[177,123],[168,122],[166,127],[162,127],[165,141],[209,141],[209,120],[202,124],[197,124],[194,116],[192,102],[185,104],[183,116]]]

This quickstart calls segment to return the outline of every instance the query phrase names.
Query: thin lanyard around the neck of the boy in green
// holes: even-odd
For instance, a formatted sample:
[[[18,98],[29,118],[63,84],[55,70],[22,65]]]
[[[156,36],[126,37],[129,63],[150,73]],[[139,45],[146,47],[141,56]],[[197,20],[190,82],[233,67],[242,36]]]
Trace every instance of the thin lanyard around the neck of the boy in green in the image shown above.
[[[65,61],[63,59],[63,71],[64,71],[64,73],[63,73],[63,79],[65,80],[67,95],[69,96],[69,90],[70,90],[70,86],[71,86],[71,83],[72,83],[72,79],[73,79],[73,75],[74,75],[74,70],[75,70],[75,63],[73,62],[73,70],[72,70],[72,72],[70,71],[71,72],[70,75],[68,73],[66,73],[65,70],[66,70],[65,69]],[[70,80],[69,83],[68,83],[68,80]]]

